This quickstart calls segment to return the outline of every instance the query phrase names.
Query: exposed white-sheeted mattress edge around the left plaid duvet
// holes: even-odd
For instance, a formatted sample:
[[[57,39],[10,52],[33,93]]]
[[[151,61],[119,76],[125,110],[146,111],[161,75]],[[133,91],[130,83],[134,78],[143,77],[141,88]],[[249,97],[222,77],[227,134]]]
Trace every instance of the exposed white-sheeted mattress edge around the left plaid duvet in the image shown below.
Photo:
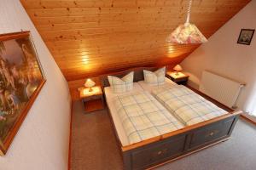
[[[139,86],[139,84],[137,82],[133,83],[133,88],[130,92],[126,92],[126,93],[122,93],[122,94],[114,94],[110,87],[104,88],[104,93],[105,93],[105,96],[106,96],[106,103],[108,105],[108,109],[109,109],[110,114],[112,116],[113,124],[114,124],[114,127],[116,129],[119,141],[123,146],[129,145],[129,140],[126,137],[125,129],[124,129],[124,127],[123,127],[123,125],[122,125],[122,123],[119,119],[118,111],[116,110],[116,107],[113,103],[113,100],[117,96],[121,96],[121,95],[125,95],[125,94],[132,94],[132,93],[142,92],[142,91],[143,91],[143,88],[141,86]]]

